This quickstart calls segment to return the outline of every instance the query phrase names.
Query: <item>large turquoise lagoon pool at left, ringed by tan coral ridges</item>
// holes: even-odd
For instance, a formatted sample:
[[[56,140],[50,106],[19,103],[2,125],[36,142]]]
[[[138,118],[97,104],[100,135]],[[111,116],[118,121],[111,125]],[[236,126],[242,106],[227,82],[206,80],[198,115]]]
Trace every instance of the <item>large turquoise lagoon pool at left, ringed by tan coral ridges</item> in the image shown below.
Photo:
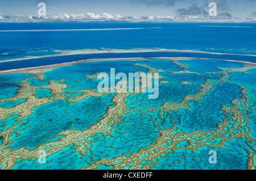
[[[54,137],[57,133],[67,129],[86,129],[96,123],[103,113],[94,112],[94,107],[106,110],[112,96],[106,95],[102,98],[84,99],[78,103],[69,104],[64,101],[56,101],[43,106],[36,107],[31,116],[23,119],[23,123],[30,121],[30,129],[25,129],[27,124],[18,126],[16,131],[20,135],[13,135],[15,138],[15,149],[22,146],[35,148],[35,145],[43,144],[48,138]],[[101,104],[100,104],[101,103]],[[38,134],[40,132],[40,134]]]

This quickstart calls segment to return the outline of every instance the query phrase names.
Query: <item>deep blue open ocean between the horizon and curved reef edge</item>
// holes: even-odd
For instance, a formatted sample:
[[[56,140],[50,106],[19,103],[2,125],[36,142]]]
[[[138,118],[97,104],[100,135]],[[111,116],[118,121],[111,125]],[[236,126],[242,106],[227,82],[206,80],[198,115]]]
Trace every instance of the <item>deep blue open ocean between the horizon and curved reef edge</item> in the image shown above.
[[[209,27],[210,26],[210,27]],[[142,28],[98,31],[32,31],[3,30],[70,30],[102,28]],[[0,61],[47,56],[59,50],[82,49],[147,49],[164,48],[215,53],[256,55],[256,24],[253,23],[1,23]],[[242,32],[242,33],[241,33]],[[140,52],[135,50],[134,52]],[[110,52],[111,53],[111,52]],[[140,53],[139,53],[140,54]],[[1,63],[0,70],[49,65],[88,58],[138,57],[139,54],[87,54],[49,57],[22,62]],[[222,58],[255,62],[251,56],[202,53],[143,53],[144,57],[186,56]]]

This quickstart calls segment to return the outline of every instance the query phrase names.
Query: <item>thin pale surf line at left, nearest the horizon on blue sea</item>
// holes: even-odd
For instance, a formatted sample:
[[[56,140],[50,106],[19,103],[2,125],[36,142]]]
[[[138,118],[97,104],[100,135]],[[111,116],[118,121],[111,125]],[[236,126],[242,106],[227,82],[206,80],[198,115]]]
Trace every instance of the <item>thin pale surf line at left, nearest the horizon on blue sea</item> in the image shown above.
[[[60,30],[0,30],[0,32],[37,32],[37,31],[97,31],[97,30],[139,30],[144,28],[98,28],[98,29],[60,29]]]

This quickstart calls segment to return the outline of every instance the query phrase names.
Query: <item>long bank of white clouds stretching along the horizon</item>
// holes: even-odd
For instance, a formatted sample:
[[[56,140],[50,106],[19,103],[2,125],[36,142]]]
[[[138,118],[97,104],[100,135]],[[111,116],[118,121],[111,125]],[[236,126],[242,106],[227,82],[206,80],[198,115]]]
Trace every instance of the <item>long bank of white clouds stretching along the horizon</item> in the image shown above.
[[[248,22],[256,21],[256,18],[234,18],[233,16],[220,15],[220,16],[206,16],[206,15],[176,15],[172,16],[121,16],[111,15],[108,13],[93,14],[87,12],[86,14],[56,14],[56,15],[16,15],[16,16],[0,16],[0,22],[52,22],[52,21],[105,21],[105,20],[126,20],[128,22],[141,22],[141,21],[199,21],[199,22]]]

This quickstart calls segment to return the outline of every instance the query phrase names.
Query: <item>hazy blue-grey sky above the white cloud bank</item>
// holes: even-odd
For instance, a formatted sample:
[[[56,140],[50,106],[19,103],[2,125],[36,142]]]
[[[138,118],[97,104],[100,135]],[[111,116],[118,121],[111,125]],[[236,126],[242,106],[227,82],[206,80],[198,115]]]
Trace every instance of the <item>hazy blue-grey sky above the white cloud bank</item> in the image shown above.
[[[0,16],[37,15],[39,2],[46,3],[47,14],[121,16],[204,15],[209,3],[216,2],[218,15],[256,18],[256,0],[0,0]]]

